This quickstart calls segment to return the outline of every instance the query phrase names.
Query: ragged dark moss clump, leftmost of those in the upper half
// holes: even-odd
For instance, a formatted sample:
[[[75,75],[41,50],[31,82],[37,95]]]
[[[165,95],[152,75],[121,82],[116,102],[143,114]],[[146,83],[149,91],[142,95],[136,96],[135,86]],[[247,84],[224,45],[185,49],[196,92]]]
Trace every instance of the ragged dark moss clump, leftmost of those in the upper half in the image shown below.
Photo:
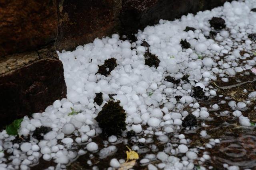
[[[116,68],[116,59],[111,58],[104,61],[104,64],[99,66],[98,73],[108,76],[112,70]]]

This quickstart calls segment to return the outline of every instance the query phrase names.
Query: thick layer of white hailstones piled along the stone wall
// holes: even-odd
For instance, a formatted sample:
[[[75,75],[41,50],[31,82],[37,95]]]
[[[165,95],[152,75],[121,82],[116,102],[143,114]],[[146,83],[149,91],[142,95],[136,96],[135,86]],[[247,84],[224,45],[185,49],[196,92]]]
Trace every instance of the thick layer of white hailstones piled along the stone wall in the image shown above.
[[[255,0],[226,2],[222,7],[198,12],[195,16],[160,20],[157,25],[139,31],[136,42],[122,41],[119,35],[113,34],[78,46],[72,52],[57,51],[64,65],[67,98],[56,100],[32,118],[25,116],[19,129],[24,140],[18,141],[5,130],[0,133],[0,169],[26,170],[37,164],[40,157],[56,162],[61,169],[77,156],[100,149],[99,155],[105,158],[104,153],[114,152],[116,147],[109,145],[102,149],[94,142],[94,137],[102,133],[95,118],[110,100],[120,101],[127,114],[124,137],[127,131],[134,131],[140,136],[137,143],[150,143],[152,139],[148,135],[165,143],[164,150],[156,155],[147,154],[140,159],[140,164],[146,164],[149,170],[192,170],[195,160],[202,165],[210,155],[204,152],[202,157],[198,156],[198,149],[190,148],[190,140],[179,130],[184,128],[185,117],[188,116],[188,122],[183,123],[184,126],[194,128],[198,119],[210,119],[209,109],[218,110],[218,104],[200,106],[200,100],[216,96],[217,89],[209,85],[211,81],[220,77],[228,82],[229,76],[250,71],[256,64],[256,58],[251,57],[256,49],[253,34],[256,33],[256,12],[251,11],[252,7],[256,7]],[[247,53],[241,55],[240,51]],[[145,54],[156,60],[152,66],[145,64]],[[112,58],[116,60],[113,70],[102,66]],[[102,69],[103,72],[106,69],[105,75],[100,74]],[[185,75],[188,76],[184,78]],[[194,96],[194,90],[202,99]],[[102,104],[99,106],[94,99],[100,93]],[[255,93],[249,96],[255,98]],[[228,105],[234,110],[230,114],[237,117],[241,125],[251,126],[248,117],[243,116],[250,100],[230,101]],[[185,107],[191,112],[185,111]],[[179,140],[178,144],[169,143],[169,133]],[[207,131],[201,131],[200,135],[208,136]],[[114,143],[117,136],[112,135],[108,140]],[[210,139],[201,149],[212,148],[216,143],[220,140]],[[74,151],[72,148],[78,145],[84,145],[84,149]],[[134,145],[132,149],[139,147]],[[160,163],[151,161],[155,158]],[[118,168],[120,163],[113,159],[110,166]],[[227,168],[239,169],[237,166]]]

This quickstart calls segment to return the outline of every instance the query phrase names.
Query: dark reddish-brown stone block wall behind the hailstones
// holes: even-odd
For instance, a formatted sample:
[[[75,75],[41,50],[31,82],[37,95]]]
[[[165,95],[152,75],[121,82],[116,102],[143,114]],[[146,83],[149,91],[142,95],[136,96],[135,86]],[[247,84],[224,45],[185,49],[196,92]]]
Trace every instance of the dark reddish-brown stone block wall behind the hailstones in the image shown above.
[[[0,123],[43,111],[66,97],[56,50],[96,37],[133,33],[160,19],[211,9],[226,0],[2,0]]]

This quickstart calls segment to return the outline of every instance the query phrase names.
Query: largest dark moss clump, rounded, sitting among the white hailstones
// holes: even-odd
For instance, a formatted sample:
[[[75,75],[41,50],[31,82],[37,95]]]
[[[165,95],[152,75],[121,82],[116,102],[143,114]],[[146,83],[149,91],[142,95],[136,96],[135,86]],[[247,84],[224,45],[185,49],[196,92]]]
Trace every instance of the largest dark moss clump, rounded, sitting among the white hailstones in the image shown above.
[[[126,113],[120,106],[120,102],[110,100],[95,118],[106,135],[120,135],[126,129]]]

